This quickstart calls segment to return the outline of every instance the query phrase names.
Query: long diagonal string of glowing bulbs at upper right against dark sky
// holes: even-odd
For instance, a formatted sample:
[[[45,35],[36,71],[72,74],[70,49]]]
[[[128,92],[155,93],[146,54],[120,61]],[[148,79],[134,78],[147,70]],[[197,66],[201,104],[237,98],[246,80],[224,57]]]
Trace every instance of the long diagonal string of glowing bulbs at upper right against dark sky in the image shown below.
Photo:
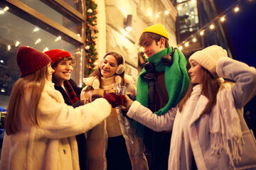
[[[237,13],[240,8],[239,5],[242,2],[242,0],[238,0],[235,1],[234,4],[232,4],[229,8],[227,8],[225,11],[223,11],[223,13],[220,13],[218,16],[216,16],[215,18],[213,18],[213,20],[211,20],[209,23],[207,23],[205,26],[203,26],[201,29],[197,30],[196,33],[193,33],[192,35],[190,35],[188,38],[186,38],[185,40],[183,40],[180,44],[178,44],[178,48],[180,50],[183,49],[183,47],[188,47],[189,44],[192,42],[196,42],[197,41],[197,37],[198,36],[203,36],[205,35],[205,31],[206,30],[214,30],[215,28],[215,22],[220,21],[220,22],[224,22],[226,21],[226,16],[228,16],[230,13]]]

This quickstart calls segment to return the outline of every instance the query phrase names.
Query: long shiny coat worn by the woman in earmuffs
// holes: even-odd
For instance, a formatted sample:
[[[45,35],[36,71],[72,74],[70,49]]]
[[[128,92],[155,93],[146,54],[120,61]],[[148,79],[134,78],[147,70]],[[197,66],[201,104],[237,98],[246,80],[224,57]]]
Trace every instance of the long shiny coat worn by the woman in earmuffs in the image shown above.
[[[114,83],[114,82],[112,82]],[[134,84],[127,84],[127,93],[132,91],[136,93]],[[130,93],[129,93],[130,94]],[[90,97],[91,92],[81,93],[81,98]],[[133,170],[149,169],[146,157],[144,155],[144,142],[142,138],[135,135],[132,128],[132,121],[122,115],[120,109],[116,109],[119,126],[124,137],[129,159],[131,160]],[[99,112],[100,113],[100,112]],[[104,120],[100,125],[95,126],[87,132],[87,165],[89,170],[106,170],[107,169],[107,121]],[[122,156],[120,156],[122,157]]]

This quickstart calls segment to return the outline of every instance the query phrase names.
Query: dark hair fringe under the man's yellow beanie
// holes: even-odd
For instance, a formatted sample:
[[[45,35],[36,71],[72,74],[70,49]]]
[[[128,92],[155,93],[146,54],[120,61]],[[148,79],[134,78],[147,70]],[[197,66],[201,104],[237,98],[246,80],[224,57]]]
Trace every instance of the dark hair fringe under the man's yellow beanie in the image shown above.
[[[166,47],[166,48],[169,47],[169,41],[167,38],[165,38],[161,35],[155,34],[155,33],[148,33],[148,32],[142,33],[142,35],[139,38],[139,45],[143,46],[143,44],[146,40],[151,40],[151,42],[153,42],[155,40],[156,42],[159,42],[161,38],[164,38],[164,40],[165,40],[164,47]]]

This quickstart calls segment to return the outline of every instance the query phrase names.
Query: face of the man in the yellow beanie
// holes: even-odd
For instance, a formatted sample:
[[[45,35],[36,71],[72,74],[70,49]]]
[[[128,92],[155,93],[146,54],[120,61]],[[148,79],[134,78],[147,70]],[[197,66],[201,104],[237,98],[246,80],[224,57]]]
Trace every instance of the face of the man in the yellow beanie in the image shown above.
[[[147,55],[147,57],[151,57],[157,52],[164,50],[165,49],[164,45],[165,45],[164,38],[161,38],[159,42],[156,42],[156,40],[147,39],[142,44],[142,47],[144,47],[144,53]]]

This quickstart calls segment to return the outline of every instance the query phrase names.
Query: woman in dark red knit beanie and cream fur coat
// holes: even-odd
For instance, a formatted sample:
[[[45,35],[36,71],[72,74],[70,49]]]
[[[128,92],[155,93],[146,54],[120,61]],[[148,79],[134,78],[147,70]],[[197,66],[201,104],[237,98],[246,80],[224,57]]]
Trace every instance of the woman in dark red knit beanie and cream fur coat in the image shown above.
[[[80,169],[75,135],[107,118],[114,96],[73,108],[54,89],[48,55],[21,46],[16,59],[21,79],[14,84],[7,109],[0,169]]]

